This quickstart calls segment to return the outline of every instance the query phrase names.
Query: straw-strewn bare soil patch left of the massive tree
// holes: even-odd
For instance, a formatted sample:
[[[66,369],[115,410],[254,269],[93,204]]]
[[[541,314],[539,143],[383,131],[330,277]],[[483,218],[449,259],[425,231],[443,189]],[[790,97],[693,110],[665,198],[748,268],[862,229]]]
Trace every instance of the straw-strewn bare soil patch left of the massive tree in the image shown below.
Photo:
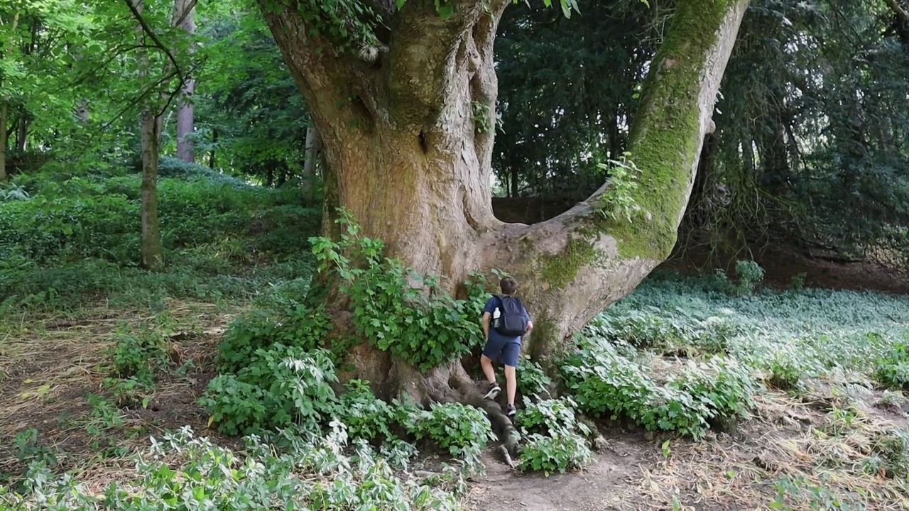
[[[137,325],[154,315],[99,306],[75,320],[7,323],[0,331],[0,476],[25,469],[15,438],[29,429],[37,432],[30,448],[52,454],[60,470],[117,465],[117,459],[147,446],[149,436],[186,425],[205,430],[208,417],[196,400],[214,376],[212,357],[235,311],[185,302],[167,310],[178,332],[169,341],[175,366],[190,363],[179,375],[162,375],[145,407],[106,409],[91,406],[88,397],[115,401],[103,385],[110,376],[105,350],[114,346],[121,322]]]

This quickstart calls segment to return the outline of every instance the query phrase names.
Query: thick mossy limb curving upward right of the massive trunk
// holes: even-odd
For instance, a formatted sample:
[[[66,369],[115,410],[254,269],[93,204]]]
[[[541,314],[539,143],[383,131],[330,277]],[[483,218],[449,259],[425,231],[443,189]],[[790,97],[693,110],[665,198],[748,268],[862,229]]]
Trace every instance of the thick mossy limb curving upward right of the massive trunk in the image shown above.
[[[563,215],[484,237],[486,264],[528,283],[522,296],[539,320],[532,355],[545,358],[671,251],[747,5],[678,0],[632,126],[629,150],[641,175],[639,188],[626,194],[640,207],[631,222],[610,200],[614,188],[607,183]]]

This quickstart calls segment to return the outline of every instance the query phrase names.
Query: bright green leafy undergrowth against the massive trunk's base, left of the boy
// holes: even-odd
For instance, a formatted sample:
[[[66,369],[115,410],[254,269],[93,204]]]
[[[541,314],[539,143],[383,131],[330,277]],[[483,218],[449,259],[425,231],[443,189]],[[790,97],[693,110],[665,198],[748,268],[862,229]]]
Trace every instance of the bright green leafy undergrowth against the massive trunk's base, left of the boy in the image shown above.
[[[339,223],[345,226],[341,240],[314,237],[312,250],[319,270],[340,278],[351,299],[355,331],[349,335],[424,369],[479,345],[481,281],[472,284],[466,300],[437,288],[426,299],[408,286],[407,278],[431,287],[434,280],[384,258],[381,242],[358,235],[346,215]],[[210,423],[229,435],[250,435],[291,426],[318,432],[341,421],[352,438],[375,446],[422,442],[466,466],[477,465],[491,438],[483,412],[457,404],[420,409],[386,403],[375,397],[369,382],[359,380],[341,386],[338,369],[355,341],[332,330],[325,306],[310,305],[294,288],[275,291],[236,318],[219,346],[220,374],[200,400],[211,413]],[[327,338],[332,341],[326,343]]]

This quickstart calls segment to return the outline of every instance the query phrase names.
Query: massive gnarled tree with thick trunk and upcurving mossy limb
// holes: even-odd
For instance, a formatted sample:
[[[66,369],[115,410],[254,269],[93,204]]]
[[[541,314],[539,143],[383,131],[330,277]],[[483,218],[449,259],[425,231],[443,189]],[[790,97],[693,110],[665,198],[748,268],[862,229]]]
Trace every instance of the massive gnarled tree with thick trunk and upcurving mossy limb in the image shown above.
[[[516,276],[535,324],[525,349],[541,359],[672,249],[748,4],[678,0],[629,138],[636,187],[606,183],[563,215],[523,225],[493,215],[494,130],[482,129],[494,123],[493,42],[507,0],[260,2],[321,136],[326,233],[344,206],[387,255],[441,276],[453,294],[473,271]],[[345,296],[329,296],[343,318]],[[467,382],[458,363],[421,374],[367,343],[350,363],[355,376],[421,400],[453,398]]]

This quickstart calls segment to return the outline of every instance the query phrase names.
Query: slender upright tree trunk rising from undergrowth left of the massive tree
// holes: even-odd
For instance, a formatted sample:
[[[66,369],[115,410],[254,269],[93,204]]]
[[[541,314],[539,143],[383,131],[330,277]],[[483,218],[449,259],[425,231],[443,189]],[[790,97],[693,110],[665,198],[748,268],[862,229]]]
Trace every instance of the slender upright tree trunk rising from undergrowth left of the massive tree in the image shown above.
[[[142,14],[142,0],[133,0],[136,11]],[[137,34],[140,43],[145,40],[142,27],[139,26]],[[148,58],[140,57],[140,76],[148,75]],[[164,266],[164,257],[161,250],[161,230],[158,225],[158,151],[161,140],[162,118],[156,115],[155,105],[143,106],[141,115],[142,131],[142,185],[141,185],[141,216],[142,216],[142,260],[145,269],[157,271]]]

